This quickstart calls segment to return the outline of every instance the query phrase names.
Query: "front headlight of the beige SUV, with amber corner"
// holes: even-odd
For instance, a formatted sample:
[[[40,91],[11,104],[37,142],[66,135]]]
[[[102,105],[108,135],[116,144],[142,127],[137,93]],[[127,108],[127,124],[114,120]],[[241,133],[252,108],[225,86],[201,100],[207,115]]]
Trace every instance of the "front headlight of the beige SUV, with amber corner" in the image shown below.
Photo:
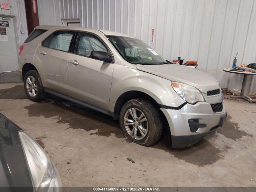
[[[202,93],[193,86],[172,81],[172,88],[182,99],[190,104],[205,101]]]

